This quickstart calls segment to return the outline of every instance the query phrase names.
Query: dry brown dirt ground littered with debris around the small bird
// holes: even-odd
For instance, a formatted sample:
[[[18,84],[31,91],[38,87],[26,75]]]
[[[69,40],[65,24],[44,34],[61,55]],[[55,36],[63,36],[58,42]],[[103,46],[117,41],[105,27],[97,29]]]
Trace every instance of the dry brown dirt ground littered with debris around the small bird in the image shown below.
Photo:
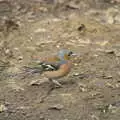
[[[120,24],[89,14],[92,5],[82,11],[74,4],[49,2],[22,7],[18,2],[12,10],[1,2],[7,9],[0,13],[7,17],[0,14],[0,120],[119,120]],[[32,56],[62,48],[80,55],[70,74],[58,80],[62,88],[30,85],[40,75],[7,76],[32,62]]]

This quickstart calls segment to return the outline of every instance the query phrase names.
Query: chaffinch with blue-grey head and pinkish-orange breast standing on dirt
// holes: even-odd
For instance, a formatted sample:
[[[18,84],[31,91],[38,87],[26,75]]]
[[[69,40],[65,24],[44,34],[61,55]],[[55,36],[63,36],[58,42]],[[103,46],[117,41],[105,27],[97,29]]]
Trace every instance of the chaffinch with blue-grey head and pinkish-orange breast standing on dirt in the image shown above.
[[[71,58],[74,56],[72,51],[63,49],[60,50],[56,55],[52,57],[42,58],[33,67],[26,67],[26,71],[32,71],[32,73],[42,73],[50,81],[57,86],[62,85],[56,81],[56,79],[66,76],[72,67]],[[34,83],[33,83],[34,84]]]

